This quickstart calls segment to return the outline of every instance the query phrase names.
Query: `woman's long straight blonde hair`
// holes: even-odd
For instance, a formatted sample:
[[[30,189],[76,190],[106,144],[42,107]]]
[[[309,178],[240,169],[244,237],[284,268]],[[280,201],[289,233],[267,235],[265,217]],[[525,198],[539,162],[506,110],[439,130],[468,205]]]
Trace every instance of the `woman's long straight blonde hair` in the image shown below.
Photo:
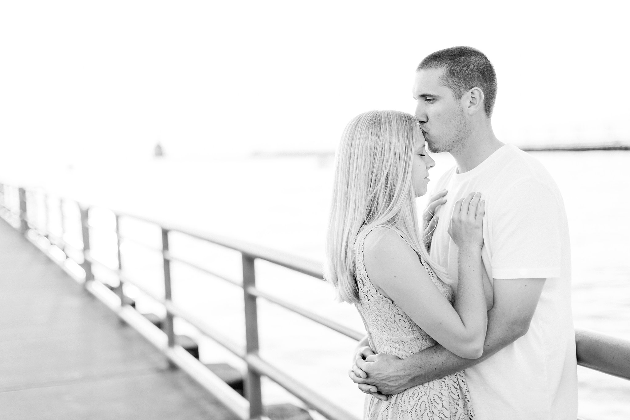
[[[444,268],[430,261],[418,229],[411,169],[421,136],[416,119],[400,111],[362,113],[343,131],[324,264],[341,301],[358,302],[355,248],[378,225],[397,230],[436,275],[447,278]]]

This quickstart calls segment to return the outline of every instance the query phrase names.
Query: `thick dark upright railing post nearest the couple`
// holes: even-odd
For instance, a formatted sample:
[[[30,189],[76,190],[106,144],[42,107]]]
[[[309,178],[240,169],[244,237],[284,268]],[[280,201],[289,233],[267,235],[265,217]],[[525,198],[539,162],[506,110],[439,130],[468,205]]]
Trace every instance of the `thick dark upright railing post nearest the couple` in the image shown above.
[[[245,297],[245,338],[248,355],[258,354],[258,310],[256,297],[250,295],[249,287],[256,286],[255,258],[243,253],[243,292]],[[249,401],[249,418],[260,419],[263,415],[263,401],[260,389],[260,375],[247,366],[245,397]]]

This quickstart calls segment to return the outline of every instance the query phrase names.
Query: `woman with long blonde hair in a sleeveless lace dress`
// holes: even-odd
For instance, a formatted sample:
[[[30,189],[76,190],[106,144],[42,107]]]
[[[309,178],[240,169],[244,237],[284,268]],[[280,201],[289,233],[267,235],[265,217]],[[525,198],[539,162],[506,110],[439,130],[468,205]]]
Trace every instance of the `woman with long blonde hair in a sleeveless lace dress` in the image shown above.
[[[346,127],[338,151],[326,278],[357,305],[377,353],[406,358],[442,344],[478,358],[486,335],[481,276],[484,202],[459,200],[449,234],[458,247],[457,298],[420,238],[415,199],[435,162],[413,116],[370,111]],[[474,419],[463,372],[390,395],[367,395],[365,419]]]

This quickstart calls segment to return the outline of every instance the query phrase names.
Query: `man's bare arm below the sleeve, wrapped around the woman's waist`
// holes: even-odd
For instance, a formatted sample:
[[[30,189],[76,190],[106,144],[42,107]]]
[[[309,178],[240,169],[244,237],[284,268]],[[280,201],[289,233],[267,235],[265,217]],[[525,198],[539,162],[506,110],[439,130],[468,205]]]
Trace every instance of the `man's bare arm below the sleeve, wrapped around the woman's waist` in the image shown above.
[[[365,360],[357,353],[350,378],[371,393],[398,394],[415,385],[442,378],[486,360],[529,329],[541,296],[544,278],[495,279],[495,304],[488,311],[488,330],[483,355],[478,359],[455,356],[436,344],[406,359],[380,353]],[[363,374],[367,377],[363,378]]]

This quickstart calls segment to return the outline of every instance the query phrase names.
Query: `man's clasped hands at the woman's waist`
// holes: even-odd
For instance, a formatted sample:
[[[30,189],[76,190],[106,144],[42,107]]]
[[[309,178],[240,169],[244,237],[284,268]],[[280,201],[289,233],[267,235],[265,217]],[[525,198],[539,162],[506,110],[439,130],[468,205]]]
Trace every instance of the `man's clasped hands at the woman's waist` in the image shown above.
[[[349,375],[362,392],[386,400],[386,395],[398,394],[411,386],[408,385],[409,374],[402,365],[402,360],[396,356],[372,354],[365,360],[356,358]]]

